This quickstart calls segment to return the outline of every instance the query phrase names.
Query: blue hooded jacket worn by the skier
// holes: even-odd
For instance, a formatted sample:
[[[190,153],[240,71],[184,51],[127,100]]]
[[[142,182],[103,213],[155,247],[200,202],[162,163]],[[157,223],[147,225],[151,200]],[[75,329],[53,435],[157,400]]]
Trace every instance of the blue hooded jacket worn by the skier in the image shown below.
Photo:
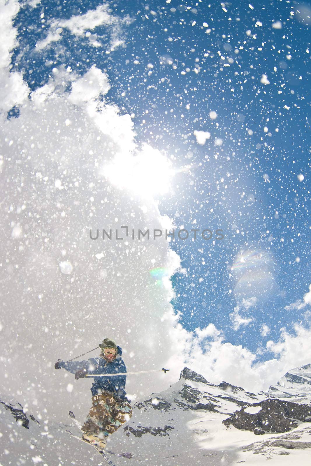
[[[126,367],[121,356],[122,349],[117,346],[117,356],[111,363],[100,356],[92,357],[84,361],[71,361],[70,363],[61,361],[60,367],[73,374],[75,374],[78,369],[85,369],[88,374],[123,373],[126,372]],[[94,397],[102,391],[108,391],[123,401],[126,395],[124,390],[125,382],[126,376],[94,377],[94,383],[91,386],[92,395]]]

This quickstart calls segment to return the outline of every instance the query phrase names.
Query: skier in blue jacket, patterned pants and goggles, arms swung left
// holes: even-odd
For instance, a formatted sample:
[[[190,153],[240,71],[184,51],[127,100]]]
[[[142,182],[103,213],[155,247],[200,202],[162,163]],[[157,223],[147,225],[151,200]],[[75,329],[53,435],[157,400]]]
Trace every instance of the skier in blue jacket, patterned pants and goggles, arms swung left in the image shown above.
[[[99,346],[99,358],[68,363],[57,361],[55,369],[66,369],[75,374],[76,379],[85,377],[86,374],[126,372],[121,358],[122,349],[111,338],[105,338]],[[93,405],[82,426],[83,440],[105,448],[108,435],[131,418],[132,408],[124,391],[125,381],[126,375],[111,378],[94,377],[91,387]]]

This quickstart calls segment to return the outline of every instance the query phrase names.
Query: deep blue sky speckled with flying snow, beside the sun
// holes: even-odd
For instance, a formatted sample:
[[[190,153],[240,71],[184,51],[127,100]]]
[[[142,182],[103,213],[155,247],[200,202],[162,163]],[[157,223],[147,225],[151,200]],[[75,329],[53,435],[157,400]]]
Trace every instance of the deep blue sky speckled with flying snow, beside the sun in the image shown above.
[[[159,196],[161,214],[188,230],[224,231],[216,244],[171,242],[187,270],[172,278],[175,310],[186,329],[212,322],[226,341],[256,352],[282,327],[290,333],[293,322],[308,323],[305,308],[284,307],[311,283],[310,4],[116,1],[112,14],[130,19],[120,25],[123,46],[106,53],[63,29],[55,47],[34,53],[46,36],[42,19],[100,4],[41,1],[21,9],[12,65],[31,89],[61,65],[107,71],[108,101],[135,114],[138,141],[172,160],[176,174]],[[95,32],[106,35],[108,50],[111,30]],[[210,137],[198,144],[194,131]],[[238,329],[236,306],[249,319]]]

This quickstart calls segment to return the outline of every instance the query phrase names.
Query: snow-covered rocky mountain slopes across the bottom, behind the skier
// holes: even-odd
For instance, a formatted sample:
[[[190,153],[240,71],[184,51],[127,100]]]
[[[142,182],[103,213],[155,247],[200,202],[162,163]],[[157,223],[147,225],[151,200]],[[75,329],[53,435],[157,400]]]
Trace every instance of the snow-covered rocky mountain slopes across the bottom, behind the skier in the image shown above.
[[[68,424],[48,425],[0,396],[1,465],[103,465],[93,447],[66,434]],[[79,418],[79,413],[76,413]],[[108,443],[116,465],[150,466],[245,463],[310,465],[311,364],[290,370],[269,391],[258,395],[222,382],[209,383],[184,368],[166,391],[133,406],[131,420]]]

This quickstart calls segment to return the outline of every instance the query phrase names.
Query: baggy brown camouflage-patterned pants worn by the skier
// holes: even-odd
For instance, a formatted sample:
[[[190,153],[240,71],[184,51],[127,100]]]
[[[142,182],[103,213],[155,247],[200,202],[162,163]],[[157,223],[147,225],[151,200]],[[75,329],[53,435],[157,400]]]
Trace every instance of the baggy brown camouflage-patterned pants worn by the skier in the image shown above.
[[[121,401],[111,393],[103,392],[92,397],[93,406],[82,426],[84,432],[101,433],[104,436],[115,432],[132,415],[131,404]]]

